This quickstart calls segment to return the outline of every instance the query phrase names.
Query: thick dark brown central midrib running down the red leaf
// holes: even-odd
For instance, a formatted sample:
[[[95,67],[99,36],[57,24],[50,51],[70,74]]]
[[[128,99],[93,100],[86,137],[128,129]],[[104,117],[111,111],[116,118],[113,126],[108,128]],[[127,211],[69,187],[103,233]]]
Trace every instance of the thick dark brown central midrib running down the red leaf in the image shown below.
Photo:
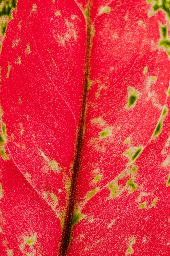
[[[81,166],[81,151],[83,145],[83,133],[85,128],[86,120],[86,102],[87,102],[87,91],[89,83],[89,62],[90,62],[90,51],[91,51],[91,4],[88,3],[86,9],[86,54],[85,54],[85,72],[83,81],[83,95],[81,103],[81,114],[78,127],[78,134],[76,140],[74,162],[72,167],[72,178],[68,197],[67,212],[65,214],[64,227],[62,232],[62,238],[59,248],[59,256],[66,256],[69,247],[70,236],[72,231],[72,220],[75,210],[75,194],[77,190],[78,173]]]

